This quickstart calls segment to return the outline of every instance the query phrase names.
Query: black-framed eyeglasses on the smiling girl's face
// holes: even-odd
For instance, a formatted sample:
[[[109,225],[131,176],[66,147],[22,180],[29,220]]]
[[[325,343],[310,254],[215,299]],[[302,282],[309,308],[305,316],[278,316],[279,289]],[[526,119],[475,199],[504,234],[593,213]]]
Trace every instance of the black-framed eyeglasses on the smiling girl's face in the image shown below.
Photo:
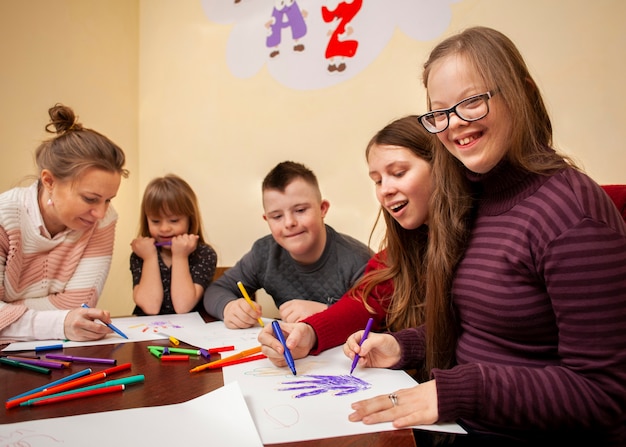
[[[490,90],[479,95],[470,96],[459,101],[449,109],[432,110],[428,113],[420,115],[417,119],[424,126],[424,129],[430,133],[443,132],[450,125],[450,114],[455,113],[456,116],[468,123],[478,121],[489,113],[489,100],[497,90]]]

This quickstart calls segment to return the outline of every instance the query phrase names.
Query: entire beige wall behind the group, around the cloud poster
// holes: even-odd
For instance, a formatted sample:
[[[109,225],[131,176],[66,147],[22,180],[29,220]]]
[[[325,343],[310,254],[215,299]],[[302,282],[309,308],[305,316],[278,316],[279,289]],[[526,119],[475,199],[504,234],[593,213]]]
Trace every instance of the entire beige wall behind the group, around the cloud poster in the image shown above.
[[[558,146],[599,183],[626,183],[626,3],[462,0],[451,11],[445,35],[471,25],[508,34],[544,92]],[[440,38],[397,31],[350,81],[296,91],[266,69],[232,76],[230,31],[210,22],[199,0],[0,0],[0,190],[33,172],[32,150],[56,101],[128,154],[132,175],[114,203],[120,228],[101,301],[114,315],[132,309],[129,242],[152,177],[175,172],[194,187],[219,265],[267,234],[260,183],[285,159],[317,173],[331,202],[327,222],[367,242],[377,206],[364,146],[390,120],[425,110],[420,67]]]

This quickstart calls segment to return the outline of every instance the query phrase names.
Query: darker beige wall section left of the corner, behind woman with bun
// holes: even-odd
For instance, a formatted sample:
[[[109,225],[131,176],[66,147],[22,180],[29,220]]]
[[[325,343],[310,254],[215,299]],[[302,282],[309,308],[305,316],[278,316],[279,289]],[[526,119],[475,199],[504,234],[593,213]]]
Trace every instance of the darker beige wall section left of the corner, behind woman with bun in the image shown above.
[[[64,103],[126,152],[131,176],[114,207],[115,253],[100,307],[132,311],[128,264],[139,207],[139,3],[0,0],[0,191],[30,183],[33,154],[51,135],[48,108]]]

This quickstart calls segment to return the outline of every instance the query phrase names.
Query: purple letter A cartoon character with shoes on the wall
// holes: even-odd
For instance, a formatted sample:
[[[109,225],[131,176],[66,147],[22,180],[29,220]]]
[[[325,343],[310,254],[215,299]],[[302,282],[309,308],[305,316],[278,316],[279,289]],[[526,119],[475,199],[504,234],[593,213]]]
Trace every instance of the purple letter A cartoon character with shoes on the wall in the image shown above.
[[[301,10],[296,0],[275,0],[271,19],[265,24],[268,29],[266,40],[267,48],[271,48],[270,57],[280,54],[278,46],[282,42],[283,29],[291,30],[294,51],[304,51],[304,44],[300,43],[307,33],[304,19],[307,16],[305,10]]]

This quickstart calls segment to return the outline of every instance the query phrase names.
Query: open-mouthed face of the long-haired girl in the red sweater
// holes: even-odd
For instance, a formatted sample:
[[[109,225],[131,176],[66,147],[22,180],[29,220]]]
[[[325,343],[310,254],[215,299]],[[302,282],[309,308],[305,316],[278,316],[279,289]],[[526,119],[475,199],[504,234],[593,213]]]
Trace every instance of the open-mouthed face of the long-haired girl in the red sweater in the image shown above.
[[[414,230],[427,223],[432,182],[426,160],[402,146],[375,144],[367,165],[376,198],[402,228]]]

